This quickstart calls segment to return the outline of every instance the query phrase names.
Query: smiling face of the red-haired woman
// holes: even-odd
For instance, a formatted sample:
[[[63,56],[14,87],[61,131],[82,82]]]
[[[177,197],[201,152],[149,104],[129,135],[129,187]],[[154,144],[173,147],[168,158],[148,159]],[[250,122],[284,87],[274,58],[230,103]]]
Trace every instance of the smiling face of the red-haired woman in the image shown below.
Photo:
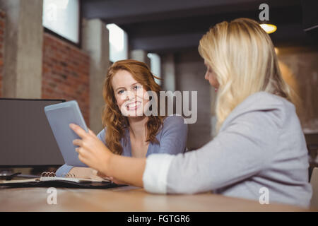
[[[122,115],[126,117],[143,116],[143,108],[149,101],[148,95],[143,85],[138,83],[131,73],[124,70],[117,71],[112,78],[112,88]]]

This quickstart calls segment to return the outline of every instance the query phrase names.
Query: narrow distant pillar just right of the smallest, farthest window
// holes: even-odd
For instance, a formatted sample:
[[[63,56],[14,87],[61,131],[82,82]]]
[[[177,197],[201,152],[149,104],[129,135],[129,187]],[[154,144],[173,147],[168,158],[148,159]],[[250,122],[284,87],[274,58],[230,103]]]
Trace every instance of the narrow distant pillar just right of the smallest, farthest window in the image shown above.
[[[173,54],[165,54],[161,59],[163,90],[175,92],[175,60]]]

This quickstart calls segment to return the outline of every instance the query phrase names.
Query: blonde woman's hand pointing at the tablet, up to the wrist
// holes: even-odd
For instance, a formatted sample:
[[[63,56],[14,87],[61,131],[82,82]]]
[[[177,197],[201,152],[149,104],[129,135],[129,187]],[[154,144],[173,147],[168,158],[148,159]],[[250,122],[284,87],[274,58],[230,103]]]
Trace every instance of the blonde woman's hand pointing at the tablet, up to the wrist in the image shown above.
[[[86,133],[81,126],[76,124],[69,124],[69,127],[81,137],[81,139],[73,140],[73,145],[78,145],[76,148],[78,159],[98,172],[107,174],[108,162],[113,155],[110,150],[90,129]]]

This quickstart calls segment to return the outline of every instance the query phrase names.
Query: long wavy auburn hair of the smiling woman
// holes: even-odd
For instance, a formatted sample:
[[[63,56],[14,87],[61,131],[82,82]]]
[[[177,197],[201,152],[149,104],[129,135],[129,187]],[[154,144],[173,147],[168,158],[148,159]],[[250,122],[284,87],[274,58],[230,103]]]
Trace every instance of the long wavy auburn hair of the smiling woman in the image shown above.
[[[117,101],[112,88],[112,78],[118,71],[128,71],[131,76],[138,83],[143,85],[146,91],[153,91],[157,97],[160,94],[160,85],[155,83],[155,78],[158,78],[151,73],[151,70],[146,64],[140,61],[132,59],[126,59],[117,61],[107,71],[107,76],[104,82],[103,97],[105,100],[105,106],[102,112],[102,124],[107,129],[105,141],[107,147],[110,148],[112,153],[122,155],[122,145],[120,140],[126,138],[125,130],[129,127],[129,121],[127,117],[122,115],[117,105]],[[160,79],[160,78],[158,78]],[[157,109],[159,108],[159,101],[157,101]],[[146,122],[146,141],[151,143],[159,143],[155,135],[158,133],[160,126],[163,125],[163,119],[165,116],[149,116]],[[126,139],[124,140],[125,142]]]

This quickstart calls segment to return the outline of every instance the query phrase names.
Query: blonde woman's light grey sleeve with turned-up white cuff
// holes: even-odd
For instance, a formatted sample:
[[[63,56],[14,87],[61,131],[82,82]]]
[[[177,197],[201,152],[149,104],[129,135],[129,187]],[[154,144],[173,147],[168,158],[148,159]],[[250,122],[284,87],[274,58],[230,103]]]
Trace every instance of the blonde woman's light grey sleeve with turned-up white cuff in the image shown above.
[[[278,127],[272,116],[270,112],[243,114],[199,150],[150,155],[144,188],[161,194],[194,194],[249,179],[273,159]]]

